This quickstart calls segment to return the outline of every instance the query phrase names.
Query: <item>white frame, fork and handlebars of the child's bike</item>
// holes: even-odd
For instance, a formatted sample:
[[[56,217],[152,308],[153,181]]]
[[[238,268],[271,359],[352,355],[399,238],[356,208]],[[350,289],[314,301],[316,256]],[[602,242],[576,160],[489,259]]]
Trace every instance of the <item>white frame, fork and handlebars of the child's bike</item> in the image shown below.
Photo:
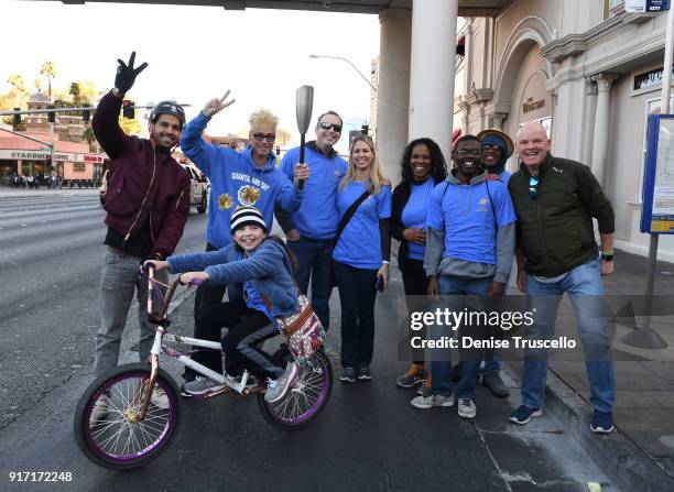
[[[246,385],[249,379],[249,371],[244,370],[243,375],[241,376],[241,381],[237,383],[228,374],[220,374],[215,372],[207,367],[194,361],[192,358],[185,356],[177,350],[172,349],[171,347],[164,345],[164,340],[175,343],[185,343],[194,347],[203,347],[206,349],[221,350],[222,347],[217,341],[210,340],[202,340],[199,338],[192,337],[183,337],[181,335],[167,334],[165,326],[166,322],[166,311],[168,310],[168,305],[171,304],[171,299],[175,294],[175,289],[180,284],[180,277],[171,283],[168,286],[168,291],[166,292],[166,296],[164,297],[161,292],[159,292],[159,296],[162,299],[162,306],[160,308],[160,313],[157,316],[154,315],[152,309],[152,292],[156,289],[155,285],[156,281],[154,280],[154,269],[148,269],[148,317],[150,318],[150,322],[157,325],[156,332],[154,335],[154,342],[152,343],[152,349],[150,350],[150,381],[149,381],[149,391],[145,393],[144,401],[141,407],[140,419],[145,418],[145,413],[148,412],[148,407],[150,406],[150,401],[152,400],[152,391],[154,390],[154,383],[156,381],[156,375],[159,373],[159,356],[163,353],[166,357],[172,357],[176,359],[181,364],[187,365],[188,368],[194,369],[198,373],[218,382],[219,384],[224,384],[225,387],[215,392],[207,393],[203,395],[203,398],[211,398],[214,396],[221,395],[224,393],[230,393],[230,390],[236,391],[239,394],[252,394],[259,393],[259,391],[247,391]]]

